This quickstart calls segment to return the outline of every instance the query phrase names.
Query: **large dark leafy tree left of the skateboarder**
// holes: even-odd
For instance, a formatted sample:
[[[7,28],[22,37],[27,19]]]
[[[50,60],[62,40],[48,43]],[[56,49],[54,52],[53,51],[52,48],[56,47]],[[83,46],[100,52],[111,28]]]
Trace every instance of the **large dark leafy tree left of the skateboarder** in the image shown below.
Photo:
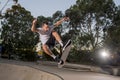
[[[20,5],[13,5],[3,18],[2,39],[6,49],[9,52],[11,52],[10,48],[13,51],[32,50],[37,40],[30,29],[33,20],[31,13]]]

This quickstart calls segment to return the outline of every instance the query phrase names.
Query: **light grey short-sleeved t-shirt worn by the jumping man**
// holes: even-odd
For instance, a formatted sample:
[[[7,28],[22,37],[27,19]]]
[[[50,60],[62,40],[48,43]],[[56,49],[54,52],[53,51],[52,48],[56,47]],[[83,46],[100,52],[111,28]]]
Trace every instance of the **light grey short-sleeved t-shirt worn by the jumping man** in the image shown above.
[[[50,38],[50,34],[54,28],[55,28],[55,26],[50,26],[49,30],[46,32],[42,28],[37,28],[37,29],[39,29],[39,31],[38,31],[39,39],[42,42],[42,45],[44,45],[48,41],[48,39]]]

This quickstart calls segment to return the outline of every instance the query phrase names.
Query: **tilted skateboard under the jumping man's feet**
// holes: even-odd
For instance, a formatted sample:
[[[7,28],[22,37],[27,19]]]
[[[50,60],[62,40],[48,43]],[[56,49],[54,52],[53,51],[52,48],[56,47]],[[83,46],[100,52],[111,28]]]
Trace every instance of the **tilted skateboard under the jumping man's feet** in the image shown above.
[[[69,55],[71,49],[71,40],[68,40],[68,44],[64,51],[61,51],[61,60],[63,60],[63,64],[58,64],[58,68],[62,68],[65,65],[66,59]]]

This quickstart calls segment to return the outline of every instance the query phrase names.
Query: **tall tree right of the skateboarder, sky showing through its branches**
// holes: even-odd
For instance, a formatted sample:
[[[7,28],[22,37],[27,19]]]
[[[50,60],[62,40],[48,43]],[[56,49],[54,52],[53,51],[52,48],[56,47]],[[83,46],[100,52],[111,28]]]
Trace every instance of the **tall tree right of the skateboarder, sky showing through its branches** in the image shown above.
[[[74,31],[74,47],[94,50],[103,46],[104,34],[107,34],[104,29],[112,25],[115,10],[113,0],[77,0],[66,10]]]

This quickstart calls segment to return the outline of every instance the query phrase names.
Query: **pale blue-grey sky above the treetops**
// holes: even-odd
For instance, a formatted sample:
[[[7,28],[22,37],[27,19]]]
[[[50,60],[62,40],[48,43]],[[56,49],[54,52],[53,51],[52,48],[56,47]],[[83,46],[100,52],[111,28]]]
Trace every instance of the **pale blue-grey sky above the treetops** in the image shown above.
[[[7,1],[8,0],[0,0],[0,10]],[[114,1],[116,5],[120,5],[120,0]],[[65,10],[76,3],[76,0],[18,0],[18,3],[26,10],[30,11],[34,17],[40,15],[50,17],[58,10],[64,13]],[[9,0],[2,12],[10,8],[12,4],[14,4],[13,0]]]

